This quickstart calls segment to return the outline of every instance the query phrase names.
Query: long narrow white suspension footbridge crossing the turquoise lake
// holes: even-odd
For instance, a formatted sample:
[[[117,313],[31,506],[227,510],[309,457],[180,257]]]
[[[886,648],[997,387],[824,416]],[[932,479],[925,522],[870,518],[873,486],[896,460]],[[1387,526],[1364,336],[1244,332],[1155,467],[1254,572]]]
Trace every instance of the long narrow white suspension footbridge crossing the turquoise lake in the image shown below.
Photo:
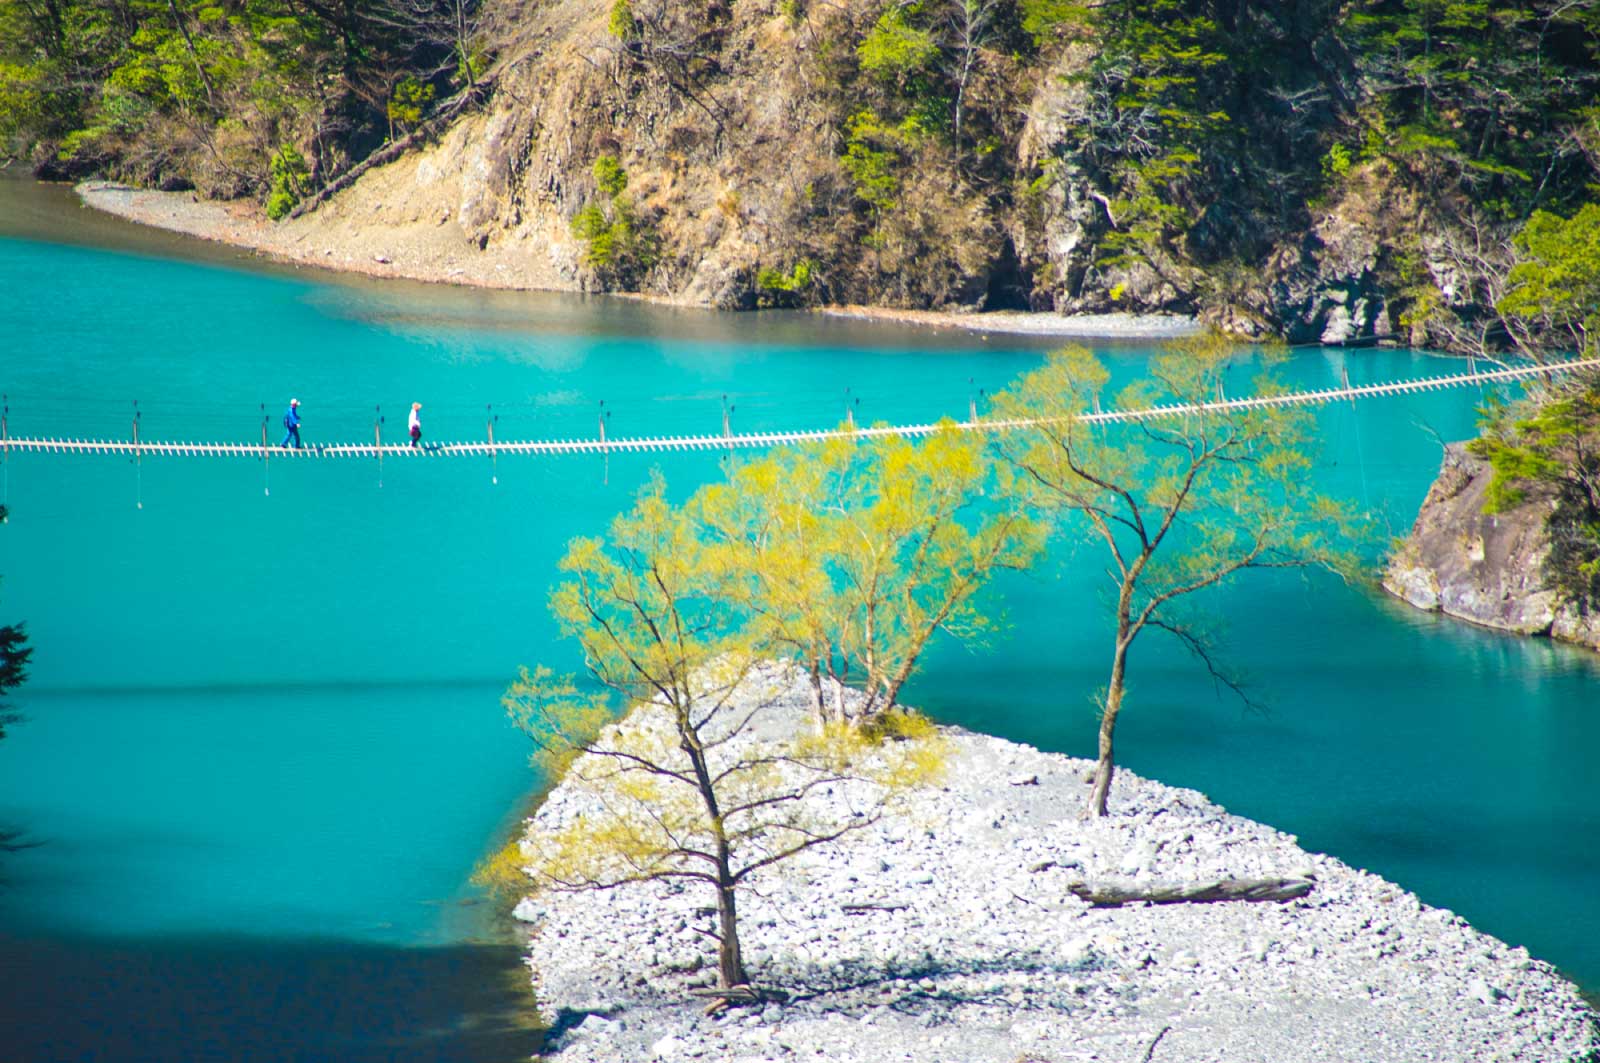
[[[1114,423],[1130,423],[1130,421],[1154,421],[1163,418],[1179,418],[1179,416],[1203,416],[1206,413],[1222,413],[1229,410],[1259,410],[1267,407],[1302,407],[1302,405],[1322,405],[1328,402],[1338,402],[1341,399],[1373,399],[1378,395],[1402,395],[1422,391],[1443,391],[1448,387],[1461,387],[1466,384],[1483,384],[1483,383],[1502,383],[1514,379],[1526,379],[1530,376],[1546,376],[1550,373],[1570,373],[1573,370],[1600,368],[1600,359],[1581,359],[1574,362],[1558,362],[1552,365],[1525,365],[1504,370],[1485,370],[1472,373],[1458,373],[1454,376],[1424,376],[1416,379],[1403,381],[1386,381],[1379,384],[1357,384],[1346,387],[1328,387],[1322,391],[1294,391],[1280,395],[1254,395],[1250,399],[1218,399],[1213,402],[1197,402],[1197,403],[1174,403],[1174,405],[1157,405],[1138,410],[1093,410],[1077,415],[1077,418],[1086,424],[1114,424]],[[1096,403],[1098,405],[1098,403]],[[976,410],[971,410],[974,413]],[[942,423],[925,423],[925,424],[877,424],[877,426],[856,426],[854,424],[854,408],[846,410],[846,419],[850,421],[845,427],[832,429],[794,429],[794,431],[770,431],[770,432],[739,432],[733,434],[728,431],[728,423],[725,419],[723,432],[715,435],[606,435],[605,419],[606,413],[600,416],[600,435],[597,439],[539,439],[539,440],[496,440],[493,437],[493,429],[490,431],[488,440],[464,442],[464,443],[424,443],[421,447],[411,447],[408,443],[382,443],[382,418],[378,418],[373,431],[371,443],[310,443],[304,450],[282,450],[278,447],[270,447],[266,443],[237,443],[237,442],[221,442],[221,443],[200,443],[200,442],[158,442],[150,439],[139,439],[138,421],[134,421],[134,435],[131,440],[117,439],[51,439],[51,437],[27,437],[27,435],[6,435],[3,440],[3,450],[6,456],[11,451],[21,453],[104,453],[104,455],[130,455],[133,458],[142,458],[144,455],[166,455],[181,458],[440,458],[440,456],[499,456],[499,455],[562,455],[562,453],[597,453],[608,455],[613,451],[626,453],[656,453],[656,451],[675,451],[675,450],[723,450],[733,447],[781,447],[792,443],[811,443],[824,442],[834,439],[882,439],[888,435],[899,435],[906,439],[915,439],[920,435],[931,435],[939,431]],[[1037,427],[1042,424],[1038,419],[968,419],[968,421],[952,421],[954,427],[960,431],[1010,431],[1021,427]]]

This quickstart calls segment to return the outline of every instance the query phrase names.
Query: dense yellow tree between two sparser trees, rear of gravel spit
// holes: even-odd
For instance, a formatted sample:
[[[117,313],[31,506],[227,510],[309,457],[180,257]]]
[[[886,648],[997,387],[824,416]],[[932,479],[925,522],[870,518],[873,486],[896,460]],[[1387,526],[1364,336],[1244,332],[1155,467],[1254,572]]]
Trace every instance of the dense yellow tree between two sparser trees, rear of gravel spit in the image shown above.
[[[691,504],[762,637],[810,674],[818,719],[845,724],[846,687],[870,720],[894,709],[934,636],[978,642],[994,629],[979,591],[1032,564],[1042,535],[992,487],[984,442],[947,423],[917,443],[779,450]]]

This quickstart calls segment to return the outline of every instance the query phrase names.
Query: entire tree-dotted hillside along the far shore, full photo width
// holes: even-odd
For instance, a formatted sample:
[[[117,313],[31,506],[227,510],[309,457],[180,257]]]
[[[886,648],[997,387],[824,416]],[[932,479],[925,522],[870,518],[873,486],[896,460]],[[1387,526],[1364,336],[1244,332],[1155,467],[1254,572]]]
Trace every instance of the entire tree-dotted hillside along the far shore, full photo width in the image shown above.
[[[40,173],[282,216],[400,141],[347,221],[726,307],[1499,347],[1515,234],[1600,200],[1600,0],[0,0],[0,50]]]

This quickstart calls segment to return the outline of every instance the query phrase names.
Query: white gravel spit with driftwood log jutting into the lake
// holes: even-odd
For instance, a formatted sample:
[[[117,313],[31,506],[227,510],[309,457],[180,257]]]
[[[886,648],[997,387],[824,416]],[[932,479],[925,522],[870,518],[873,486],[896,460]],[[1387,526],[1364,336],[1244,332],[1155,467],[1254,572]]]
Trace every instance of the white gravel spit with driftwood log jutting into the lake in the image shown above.
[[[782,712],[805,725],[798,688]],[[1205,796],[950,732],[941,786],[741,897],[750,975],[786,1004],[702,1015],[714,898],[640,884],[525,900],[557,1063],[1462,1063],[1600,1060],[1549,964]],[[835,794],[843,800],[845,796]],[[534,821],[574,815],[557,788]],[[1286,903],[1090,908],[1088,882],[1310,876]],[[1154,1044],[1154,1050],[1152,1050]]]

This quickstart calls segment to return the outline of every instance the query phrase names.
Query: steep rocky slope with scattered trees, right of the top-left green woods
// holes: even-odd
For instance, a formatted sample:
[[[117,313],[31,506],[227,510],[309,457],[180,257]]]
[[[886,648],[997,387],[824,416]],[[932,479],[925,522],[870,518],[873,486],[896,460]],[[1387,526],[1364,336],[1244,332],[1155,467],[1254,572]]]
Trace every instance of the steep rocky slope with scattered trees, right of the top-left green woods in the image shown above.
[[[454,226],[531,283],[720,307],[1163,309],[1494,346],[1522,216],[1595,176],[1594,5],[1421,43],[1414,3],[1125,6],[510,0],[488,106],[312,227]],[[1488,46],[1526,101],[1478,106],[1461,72]]]

